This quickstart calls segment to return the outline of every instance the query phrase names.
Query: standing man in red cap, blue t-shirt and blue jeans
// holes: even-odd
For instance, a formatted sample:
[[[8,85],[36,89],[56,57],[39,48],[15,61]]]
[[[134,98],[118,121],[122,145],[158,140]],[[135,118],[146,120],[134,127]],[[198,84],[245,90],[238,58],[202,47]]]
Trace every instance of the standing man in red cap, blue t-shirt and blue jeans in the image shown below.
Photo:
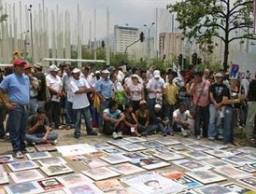
[[[0,84],[0,99],[8,109],[9,137],[11,140],[14,157],[23,158],[21,153],[25,149],[25,130],[28,117],[29,104],[29,77],[25,76],[24,65],[20,59],[13,61],[14,73],[6,76]],[[4,92],[8,91],[8,101]]]

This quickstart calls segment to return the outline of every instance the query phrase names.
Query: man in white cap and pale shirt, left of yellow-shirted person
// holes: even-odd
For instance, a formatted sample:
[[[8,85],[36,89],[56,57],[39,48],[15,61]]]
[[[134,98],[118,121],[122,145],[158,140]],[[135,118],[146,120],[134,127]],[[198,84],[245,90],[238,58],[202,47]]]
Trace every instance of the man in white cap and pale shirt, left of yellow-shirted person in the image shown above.
[[[149,91],[149,110],[152,110],[156,102],[157,95],[160,96],[164,92],[164,79],[161,77],[159,70],[154,70],[153,77],[149,79],[147,90]]]

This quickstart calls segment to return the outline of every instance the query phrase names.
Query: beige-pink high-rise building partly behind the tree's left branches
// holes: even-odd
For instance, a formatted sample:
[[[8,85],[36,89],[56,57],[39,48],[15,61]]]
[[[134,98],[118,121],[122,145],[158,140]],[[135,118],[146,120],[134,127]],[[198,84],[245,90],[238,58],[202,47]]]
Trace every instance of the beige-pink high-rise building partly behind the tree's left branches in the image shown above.
[[[159,35],[159,59],[172,60],[183,53],[183,38],[178,33],[161,33]]]

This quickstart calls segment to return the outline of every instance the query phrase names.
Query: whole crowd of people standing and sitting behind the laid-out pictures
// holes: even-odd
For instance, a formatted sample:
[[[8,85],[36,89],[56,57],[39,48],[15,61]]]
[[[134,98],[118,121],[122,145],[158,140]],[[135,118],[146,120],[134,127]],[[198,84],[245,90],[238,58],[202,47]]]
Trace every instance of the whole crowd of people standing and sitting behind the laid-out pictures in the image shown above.
[[[180,132],[235,144],[235,127],[245,127],[247,139],[254,142],[256,77],[194,72],[192,66],[180,72],[162,72],[153,65],[127,72],[113,66],[91,72],[89,66],[70,64],[44,69],[19,58],[5,70],[0,136],[9,133],[16,158],[23,157],[25,143],[56,144],[58,132],[53,129],[74,129],[74,137],[80,138],[82,119],[87,135],[97,135],[93,128],[98,128],[114,139]]]

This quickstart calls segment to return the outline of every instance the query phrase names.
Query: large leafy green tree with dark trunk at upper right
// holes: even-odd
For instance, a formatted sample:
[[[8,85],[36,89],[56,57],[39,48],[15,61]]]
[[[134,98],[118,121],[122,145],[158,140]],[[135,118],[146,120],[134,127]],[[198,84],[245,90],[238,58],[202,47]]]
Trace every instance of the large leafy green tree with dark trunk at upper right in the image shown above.
[[[177,13],[178,28],[189,40],[196,40],[204,49],[212,52],[212,37],[224,43],[223,68],[228,69],[229,44],[236,39],[255,39],[251,33],[253,24],[252,0],[183,0],[168,5]],[[235,32],[242,32],[235,35]]]

